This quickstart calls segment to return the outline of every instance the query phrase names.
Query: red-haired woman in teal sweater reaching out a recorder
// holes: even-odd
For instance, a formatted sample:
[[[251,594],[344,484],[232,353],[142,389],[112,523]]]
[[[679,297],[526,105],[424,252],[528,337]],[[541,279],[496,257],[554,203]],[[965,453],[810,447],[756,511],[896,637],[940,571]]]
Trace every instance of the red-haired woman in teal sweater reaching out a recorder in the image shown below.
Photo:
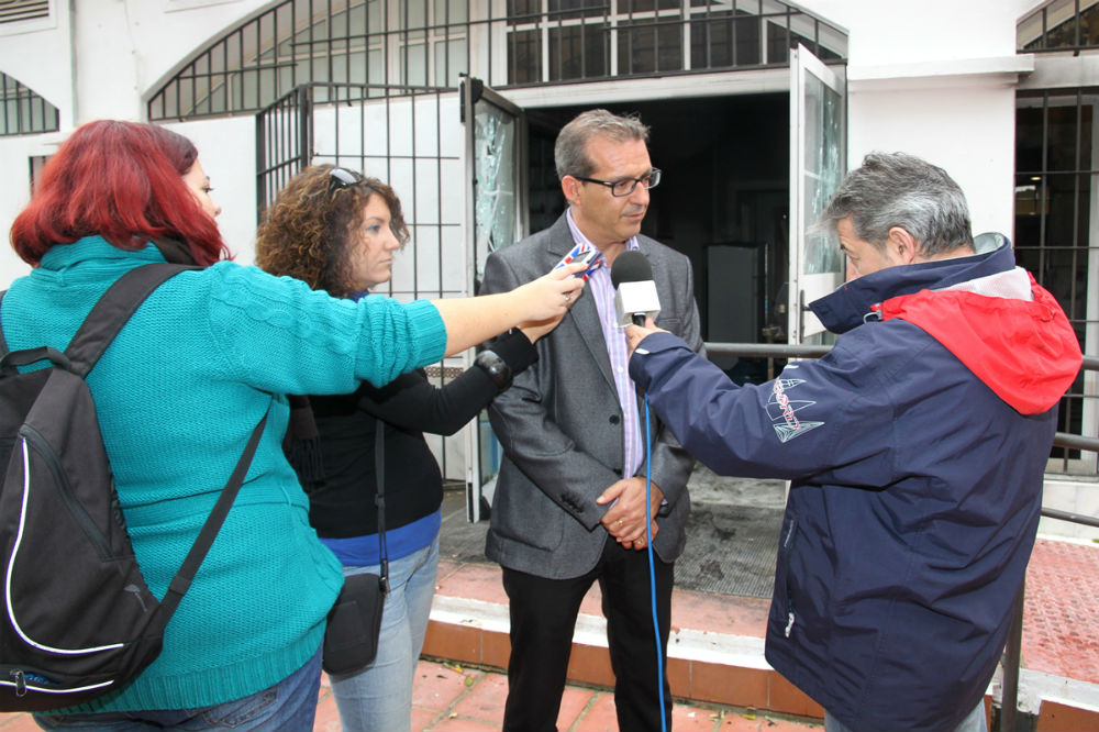
[[[209,193],[186,137],[92,122],[46,165],[11,230],[33,266],[0,312],[12,350],[63,351],[130,269],[164,260],[202,267],[157,288],[87,378],[133,548],[157,597],[268,414],[245,485],[160,655],[112,695],[35,714],[46,730],[312,729],[324,620],[342,572],[310,529],[308,500],[282,454],[284,395],[384,385],[509,328],[559,320],[582,285],[567,268],[482,298],[335,299],[226,262]]]

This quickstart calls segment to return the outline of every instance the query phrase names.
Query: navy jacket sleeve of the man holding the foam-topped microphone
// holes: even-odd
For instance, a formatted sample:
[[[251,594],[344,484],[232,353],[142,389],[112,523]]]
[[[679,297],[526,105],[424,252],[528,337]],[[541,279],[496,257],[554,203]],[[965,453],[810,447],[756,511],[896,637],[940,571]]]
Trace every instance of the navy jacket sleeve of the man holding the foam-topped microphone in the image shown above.
[[[857,463],[859,475],[845,480],[884,486],[896,478],[895,404],[845,337],[819,361],[741,387],[676,336],[654,332],[634,350],[630,375],[679,442],[719,475],[804,478]]]

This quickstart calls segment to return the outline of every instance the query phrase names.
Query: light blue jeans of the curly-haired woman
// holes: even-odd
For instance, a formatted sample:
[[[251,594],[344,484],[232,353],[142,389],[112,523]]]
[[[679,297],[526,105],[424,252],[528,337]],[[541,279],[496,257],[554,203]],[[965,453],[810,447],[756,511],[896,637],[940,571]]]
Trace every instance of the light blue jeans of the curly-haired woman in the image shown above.
[[[344,567],[345,575],[379,570],[378,565]],[[428,632],[437,573],[437,536],[430,546],[389,563],[389,595],[381,611],[378,656],[358,674],[330,678],[343,729],[410,729],[412,679]]]

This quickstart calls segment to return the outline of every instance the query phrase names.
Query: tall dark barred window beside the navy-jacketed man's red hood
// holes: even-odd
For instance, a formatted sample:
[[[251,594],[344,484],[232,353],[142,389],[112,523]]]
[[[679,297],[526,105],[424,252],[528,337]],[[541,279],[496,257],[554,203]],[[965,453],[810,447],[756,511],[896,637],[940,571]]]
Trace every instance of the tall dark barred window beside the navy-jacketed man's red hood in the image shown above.
[[[1099,352],[1099,88],[1020,91],[1014,246],[1065,309],[1085,353]],[[1095,437],[1099,378],[1081,371],[1061,402],[1058,431]],[[1096,473],[1096,456],[1055,450],[1063,473]]]

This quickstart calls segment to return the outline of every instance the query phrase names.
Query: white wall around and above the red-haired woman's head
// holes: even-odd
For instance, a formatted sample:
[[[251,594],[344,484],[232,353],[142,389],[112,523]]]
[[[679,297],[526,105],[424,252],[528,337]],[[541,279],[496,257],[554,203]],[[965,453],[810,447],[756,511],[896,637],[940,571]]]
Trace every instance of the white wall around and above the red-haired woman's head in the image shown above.
[[[60,131],[0,138],[0,230],[30,198],[32,155],[52,154],[68,133],[96,119],[145,119],[147,96],[196,48],[270,0],[79,0],[55,3],[41,30],[0,36],[0,71],[58,108]],[[40,24],[41,25],[41,24]],[[37,27],[37,26],[36,26]],[[240,117],[169,125],[195,141],[224,212],[222,235],[237,260],[255,252],[255,122]],[[0,287],[27,271],[0,246]]]

